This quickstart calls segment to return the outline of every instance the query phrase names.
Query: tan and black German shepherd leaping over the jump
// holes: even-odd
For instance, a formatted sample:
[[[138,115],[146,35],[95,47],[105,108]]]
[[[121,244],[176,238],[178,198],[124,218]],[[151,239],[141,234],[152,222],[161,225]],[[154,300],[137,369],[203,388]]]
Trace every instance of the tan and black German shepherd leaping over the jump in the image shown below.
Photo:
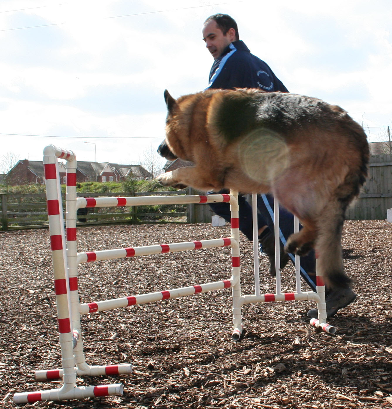
[[[166,138],[158,152],[194,166],[158,177],[164,186],[272,193],[303,229],[286,251],[317,250],[329,288],[345,287],[341,235],[347,206],[367,176],[363,128],[342,108],[303,95],[256,89],[164,93]]]

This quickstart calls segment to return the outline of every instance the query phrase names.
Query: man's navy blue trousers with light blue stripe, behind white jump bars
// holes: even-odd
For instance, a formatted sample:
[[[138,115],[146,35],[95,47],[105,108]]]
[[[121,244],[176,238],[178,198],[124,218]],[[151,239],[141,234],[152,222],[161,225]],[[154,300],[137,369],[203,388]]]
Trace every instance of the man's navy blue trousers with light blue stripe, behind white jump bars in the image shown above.
[[[208,192],[213,193],[213,192]],[[228,193],[227,190],[218,192]],[[209,203],[211,209],[223,217],[224,220],[230,222],[230,205],[229,203]],[[239,224],[240,231],[249,239],[253,240],[253,217],[252,206],[249,205],[244,196],[238,195],[239,205]],[[274,198],[271,195],[258,195],[257,196],[257,226],[258,229],[267,225],[267,228],[274,234]],[[294,233],[294,216],[292,213],[279,206],[279,234],[281,243],[286,245],[286,240],[290,234]],[[300,226],[301,228],[301,226]],[[294,254],[289,253],[290,260],[295,264]],[[315,252],[312,250],[305,257],[299,258],[301,266],[301,276],[308,283],[313,291],[316,291],[316,260]]]

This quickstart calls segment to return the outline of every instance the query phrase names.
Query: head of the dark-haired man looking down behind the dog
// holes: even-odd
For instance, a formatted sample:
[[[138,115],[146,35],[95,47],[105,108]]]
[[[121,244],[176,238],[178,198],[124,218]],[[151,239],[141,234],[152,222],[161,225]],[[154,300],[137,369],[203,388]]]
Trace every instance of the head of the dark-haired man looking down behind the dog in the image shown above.
[[[223,50],[233,41],[238,41],[237,23],[227,14],[214,14],[203,24],[203,40],[214,60],[220,57]]]

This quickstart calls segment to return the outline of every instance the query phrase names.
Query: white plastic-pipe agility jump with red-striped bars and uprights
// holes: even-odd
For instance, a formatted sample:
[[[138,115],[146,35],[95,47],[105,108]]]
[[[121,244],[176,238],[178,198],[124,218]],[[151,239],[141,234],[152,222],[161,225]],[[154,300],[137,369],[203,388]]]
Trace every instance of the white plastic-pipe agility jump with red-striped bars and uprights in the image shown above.
[[[279,250],[276,251],[276,293],[260,294],[258,277],[258,243],[254,240],[255,294],[241,295],[240,287],[240,248],[237,192],[216,195],[192,196],[147,196],[122,198],[77,198],[76,194],[76,157],[72,151],[46,146],[43,156],[45,169],[46,196],[50,230],[50,246],[54,271],[54,288],[56,293],[59,339],[61,346],[61,369],[36,371],[37,380],[63,380],[60,388],[46,391],[23,392],[14,394],[15,403],[33,403],[45,400],[83,399],[96,396],[122,395],[122,384],[107,384],[99,386],[78,387],[77,376],[88,375],[118,375],[132,372],[132,365],[88,365],[83,350],[81,314],[91,314],[97,311],[111,310],[136,304],[184,297],[200,292],[210,292],[231,288],[233,302],[233,334],[235,341],[242,333],[242,306],[249,303],[267,301],[314,300],[319,311],[318,319],[311,323],[316,328],[328,333],[334,333],[335,328],[326,323],[325,288],[322,277],[317,276],[317,292],[301,292],[299,261],[296,259],[296,292],[282,293],[280,285]],[[66,230],[64,230],[63,207],[61,202],[60,178],[57,159],[66,160]],[[127,247],[120,249],[77,252],[77,209],[86,207],[116,207],[138,205],[172,205],[188,203],[228,202],[231,209],[231,236],[211,240],[197,240],[183,243],[159,244],[142,247]],[[256,195],[253,198],[254,216],[256,213]],[[279,249],[279,219],[275,203],[275,245]],[[254,218],[254,220],[256,220]],[[297,227],[298,229],[298,222]],[[257,231],[254,222],[254,231]],[[254,234],[257,238],[257,234]],[[222,281],[192,285],[189,287],[163,290],[147,294],[126,295],[118,299],[80,303],[78,293],[78,265],[114,258],[137,257],[147,254],[179,252],[186,250],[206,249],[213,247],[231,247],[231,276]]]

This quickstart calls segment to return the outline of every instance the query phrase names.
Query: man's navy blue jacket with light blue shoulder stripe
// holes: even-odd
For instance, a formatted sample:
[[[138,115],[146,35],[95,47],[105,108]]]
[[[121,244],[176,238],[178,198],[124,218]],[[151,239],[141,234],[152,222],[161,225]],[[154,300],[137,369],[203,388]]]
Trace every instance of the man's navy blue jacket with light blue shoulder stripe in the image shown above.
[[[208,88],[261,88],[265,91],[288,92],[271,68],[250,53],[242,41],[234,41],[212,65]]]

